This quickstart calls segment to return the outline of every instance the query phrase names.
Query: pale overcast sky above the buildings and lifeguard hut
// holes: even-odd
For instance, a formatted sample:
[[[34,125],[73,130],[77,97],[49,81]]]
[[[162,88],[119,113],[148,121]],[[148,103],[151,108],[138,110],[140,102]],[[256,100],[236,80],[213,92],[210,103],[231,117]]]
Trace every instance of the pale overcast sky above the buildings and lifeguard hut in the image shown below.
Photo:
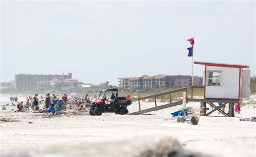
[[[72,72],[83,83],[192,75],[194,60],[255,69],[255,2],[1,1],[1,81]],[[194,65],[194,76],[204,66]]]

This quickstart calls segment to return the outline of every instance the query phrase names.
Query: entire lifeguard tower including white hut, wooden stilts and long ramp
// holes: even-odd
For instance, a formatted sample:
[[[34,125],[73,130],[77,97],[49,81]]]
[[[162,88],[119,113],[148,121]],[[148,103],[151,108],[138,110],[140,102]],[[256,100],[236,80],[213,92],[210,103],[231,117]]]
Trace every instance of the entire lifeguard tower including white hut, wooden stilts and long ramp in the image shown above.
[[[210,115],[215,111],[219,111],[225,117],[234,117],[234,104],[241,103],[242,98],[250,97],[250,70],[248,65],[226,64],[226,63],[209,63],[209,62],[194,62],[194,64],[204,65],[205,70],[203,74],[203,86],[191,86],[191,97],[186,95],[187,103],[200,102],[201,115]],[[193,98],[193,89],[203,88],[203,98]],[[182,105],[183,101],[178,100],[173,102],[171,94],[178,92],[185,92],[190,90],[188,87],[178,88],[176,90],[167,91],[148,95],[146,97],[138,98],[139,111],[130,113],[130,115],[138,115],[147,112],[157,111],[168,107]],[[169,95],[170,103],[157,106],[157,97]],[[140,100],[154,99],[155,107],[141,110]],[[184,99],[185,100],[185,99]],[[221,105],[214,105],[214,103],[222,103]],[[212,111],[206,110],[206,104],[213,107]],[[221,110],[228,104],[228,112]]]

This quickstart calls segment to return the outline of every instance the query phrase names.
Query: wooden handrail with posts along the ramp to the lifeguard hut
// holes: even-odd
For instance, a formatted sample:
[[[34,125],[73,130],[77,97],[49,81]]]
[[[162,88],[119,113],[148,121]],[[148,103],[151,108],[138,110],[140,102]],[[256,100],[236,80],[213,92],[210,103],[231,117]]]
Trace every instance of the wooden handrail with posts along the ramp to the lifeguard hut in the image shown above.
[[[170,103],[172,103],[171,93],[177,93],[177,92],[181,92],[181,91],[185,91],[187,93],[187,87],[179,88],[177,90],[167,91],[167,92],[163,92],[163,93],[157,93],[157,94],[149,95],[149,96],[142,97],[142,98],[138,98],[138,101],[139,101],[139,111],[141,111],[140,100],[154,98],[154,105],[157,107],[157,97],[169,94],[169,96],[170,96]],[[186,95],[186,97],[187,97],[187,95]]]

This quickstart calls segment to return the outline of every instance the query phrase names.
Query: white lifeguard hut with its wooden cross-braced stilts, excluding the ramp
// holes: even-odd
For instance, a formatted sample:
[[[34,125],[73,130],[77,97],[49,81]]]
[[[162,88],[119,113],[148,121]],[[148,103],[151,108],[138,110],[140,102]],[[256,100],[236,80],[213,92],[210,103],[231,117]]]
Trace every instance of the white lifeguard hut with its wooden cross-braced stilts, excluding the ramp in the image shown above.
[[[242,98],[250,97],[250,70],[248,65],[210,63],[195,61],[194,64],[204,65],[203,87],[204,99],[188,99],[189,101],[200,101],[201,107],[206,108],[206,104],[211,105],[214,110],[204,115],[209,115],[214,111],[219,111],[226,117],[234,116],[234,103],[241,103]],[[223,103],[216,106],[213,103]],[[226,104],[228,113],[220,110]]]

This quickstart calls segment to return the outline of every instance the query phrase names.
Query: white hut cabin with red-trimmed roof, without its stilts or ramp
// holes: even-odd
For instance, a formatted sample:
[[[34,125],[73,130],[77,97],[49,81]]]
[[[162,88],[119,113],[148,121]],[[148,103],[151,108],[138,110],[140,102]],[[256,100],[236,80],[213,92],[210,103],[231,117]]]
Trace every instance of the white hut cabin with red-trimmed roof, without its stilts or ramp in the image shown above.
[[[248,65],[194,62],[205,65],[203,74],[205,99],[237,99],[250,97]]]

